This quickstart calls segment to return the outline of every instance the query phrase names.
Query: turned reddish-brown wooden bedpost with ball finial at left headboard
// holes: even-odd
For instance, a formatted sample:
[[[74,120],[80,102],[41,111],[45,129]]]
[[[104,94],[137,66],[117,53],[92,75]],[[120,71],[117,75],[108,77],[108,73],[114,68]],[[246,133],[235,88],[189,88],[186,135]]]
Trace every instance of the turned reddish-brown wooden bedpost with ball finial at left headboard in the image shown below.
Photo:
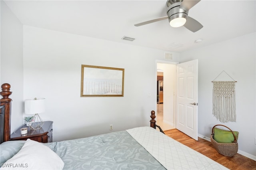
[[[11,101],[12,99],[9,96],[12,94],[10,91],[11,85],[8,83],[2,84],[2,91],[0,95],[0,105],[4,105],[4,142],[10,140],[11,138]]]

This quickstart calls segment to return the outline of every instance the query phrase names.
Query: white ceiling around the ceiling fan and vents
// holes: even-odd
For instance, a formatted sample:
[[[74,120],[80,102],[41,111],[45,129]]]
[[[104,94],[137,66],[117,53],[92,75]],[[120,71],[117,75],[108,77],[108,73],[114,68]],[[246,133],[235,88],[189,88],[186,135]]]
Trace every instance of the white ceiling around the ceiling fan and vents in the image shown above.
[[[134,26],[166,16],[165,0],[4,2],[24,25],[166,51],[186,51],[256,32],[255,0],[201,0],[188,14],[204,26],[195,33],[184,27],[172,28],[168,20]],[[123,36],[136,40],[121,40]],[[197,39],[202,42],[194,43]],[[173,43],[183,46],[173,48]]]

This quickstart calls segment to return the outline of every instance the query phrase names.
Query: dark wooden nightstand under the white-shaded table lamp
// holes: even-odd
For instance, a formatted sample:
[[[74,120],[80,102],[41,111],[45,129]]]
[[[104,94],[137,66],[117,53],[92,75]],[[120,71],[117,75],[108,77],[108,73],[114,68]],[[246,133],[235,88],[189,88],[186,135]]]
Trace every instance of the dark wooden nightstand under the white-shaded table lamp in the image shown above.
[[[30,130],[30,127],[27,127],[26,124],[19,127],[13,134],[11,134],[11,140],[36,140],[38,142],[52,142],[52,121],[45,121],[42,128],[37,130]],[[28,134],[22,135],[20,129],[27,127]]]

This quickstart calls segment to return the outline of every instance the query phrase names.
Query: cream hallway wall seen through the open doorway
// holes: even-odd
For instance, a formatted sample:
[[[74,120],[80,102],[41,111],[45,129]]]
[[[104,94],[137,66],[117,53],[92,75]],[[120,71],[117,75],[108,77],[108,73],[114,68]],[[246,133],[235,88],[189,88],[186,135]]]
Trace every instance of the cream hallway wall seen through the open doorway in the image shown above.
[[[157,63],[157,69],[164,71],[163,122],[175,127],[176,63]]]

